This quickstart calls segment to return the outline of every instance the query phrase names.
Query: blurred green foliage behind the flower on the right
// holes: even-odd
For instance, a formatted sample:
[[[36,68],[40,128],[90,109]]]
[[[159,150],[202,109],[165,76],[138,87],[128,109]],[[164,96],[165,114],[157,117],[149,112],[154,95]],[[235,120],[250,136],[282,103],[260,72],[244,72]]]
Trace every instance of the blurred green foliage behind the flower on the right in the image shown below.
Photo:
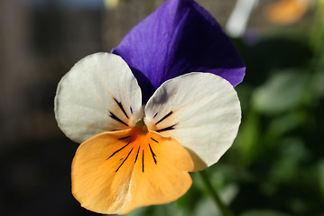
[[[313,31],[278,31],[254,45],[235,40],[246,64],[236,87],[242,124],[207,172],[236,215],[324,216],[324,1],[317,10]],[[218,215],[200,176],[192,178],[178,201],[129,215]]]

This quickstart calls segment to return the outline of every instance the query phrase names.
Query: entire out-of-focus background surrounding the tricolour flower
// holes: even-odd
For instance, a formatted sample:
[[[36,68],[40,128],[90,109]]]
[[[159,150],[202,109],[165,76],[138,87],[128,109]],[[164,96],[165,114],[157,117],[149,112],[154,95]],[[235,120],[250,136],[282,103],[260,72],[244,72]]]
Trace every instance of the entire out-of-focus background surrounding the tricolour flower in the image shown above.
[[[77,143],[53,99],[80,58],[110,51],[163,0],[1,0],[0,214],[98,215],[70,193]],[[324,216],[324,1],[197,0],[245,60],[237,139],[208,177],[239,216]],[[197,174],[180,200],[129,215],[218,215]]]

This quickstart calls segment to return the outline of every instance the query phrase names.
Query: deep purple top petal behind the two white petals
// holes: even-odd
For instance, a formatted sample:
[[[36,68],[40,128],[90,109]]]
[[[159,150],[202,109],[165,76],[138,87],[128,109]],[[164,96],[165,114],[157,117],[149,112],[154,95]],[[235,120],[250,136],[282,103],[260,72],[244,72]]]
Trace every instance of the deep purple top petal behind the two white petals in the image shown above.
[[[150,96],[164,81],[190,72],[242,82],[245,65],[217,21],[192,0],[168,0],[112,50]],[[145,97],[145,96],[144,96]]]

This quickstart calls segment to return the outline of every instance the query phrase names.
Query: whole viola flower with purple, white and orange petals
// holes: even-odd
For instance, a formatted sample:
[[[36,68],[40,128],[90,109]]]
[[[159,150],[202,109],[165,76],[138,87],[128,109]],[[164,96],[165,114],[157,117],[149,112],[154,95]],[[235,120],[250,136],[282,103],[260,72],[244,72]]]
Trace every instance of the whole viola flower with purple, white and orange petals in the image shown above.
[[[181,197],[189,172],[215,164],[236,138],[233,86],[244,74],[236,48],[192,0],[166,1],[112,53],[81,59],[55,98],[60,129],[82,143],[73,195],[108,214]]]

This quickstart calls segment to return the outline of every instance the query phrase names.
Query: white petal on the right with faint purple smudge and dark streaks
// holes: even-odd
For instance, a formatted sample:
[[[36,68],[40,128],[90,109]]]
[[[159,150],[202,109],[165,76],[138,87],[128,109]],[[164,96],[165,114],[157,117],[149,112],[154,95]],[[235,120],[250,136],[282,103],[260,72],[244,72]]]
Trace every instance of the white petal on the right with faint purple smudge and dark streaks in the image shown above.
[[[144,111],[149,130],[177,139],[189,149],[195,171],[218,161],[232,145],[241,121],[235,89],[227,80],[209,73],[190,73],[166,81]]]

